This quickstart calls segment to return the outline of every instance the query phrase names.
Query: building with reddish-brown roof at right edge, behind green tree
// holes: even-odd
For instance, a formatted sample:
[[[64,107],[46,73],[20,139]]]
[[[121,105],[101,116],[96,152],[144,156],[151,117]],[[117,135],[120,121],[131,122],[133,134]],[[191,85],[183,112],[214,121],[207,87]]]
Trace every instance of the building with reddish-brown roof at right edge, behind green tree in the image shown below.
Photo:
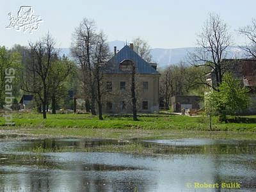
[[[222,60],[223,72],[230,72],[236,79],[241,81],[241,86],[250,89],[248,93],[251,105],[243,113],[256,113],[256,60],[255,59],[229,59]],[[216,78],[214,73],[210,73],[207,77],[207,83],[216,86]]]

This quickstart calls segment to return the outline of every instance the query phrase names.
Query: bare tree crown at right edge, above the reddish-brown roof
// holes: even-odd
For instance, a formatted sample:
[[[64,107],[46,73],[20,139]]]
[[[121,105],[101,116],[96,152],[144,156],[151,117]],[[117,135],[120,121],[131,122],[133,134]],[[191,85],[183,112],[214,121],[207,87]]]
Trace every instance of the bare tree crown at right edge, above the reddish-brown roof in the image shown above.
[[[240,28],[239,33],[248,40],[248,43],[241,48],[248,53],[248,56],[256,58],[256,19],[252,19],[251,25]]]

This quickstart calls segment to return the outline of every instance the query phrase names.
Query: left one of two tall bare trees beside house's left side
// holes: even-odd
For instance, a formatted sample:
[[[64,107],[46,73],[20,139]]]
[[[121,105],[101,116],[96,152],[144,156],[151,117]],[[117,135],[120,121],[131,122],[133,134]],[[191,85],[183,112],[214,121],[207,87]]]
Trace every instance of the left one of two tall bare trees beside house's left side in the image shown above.
[[[75,29],[72,40],[72,54],[79,62],[82,70],[84,92],[90,95],[90,109],[95,111],[95,81],[92,72],[92,52],[95,46],[96,25],[94,20],[84,18]]]

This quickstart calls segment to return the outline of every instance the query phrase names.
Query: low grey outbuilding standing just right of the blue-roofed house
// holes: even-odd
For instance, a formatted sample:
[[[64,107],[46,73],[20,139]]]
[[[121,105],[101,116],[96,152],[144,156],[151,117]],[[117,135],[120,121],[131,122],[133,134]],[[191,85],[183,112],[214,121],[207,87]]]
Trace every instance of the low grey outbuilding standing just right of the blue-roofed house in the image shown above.
[[[181,109],[200,109],[202,97],[198,95],[173,96],[171,98],[173,112],[180,113]]]

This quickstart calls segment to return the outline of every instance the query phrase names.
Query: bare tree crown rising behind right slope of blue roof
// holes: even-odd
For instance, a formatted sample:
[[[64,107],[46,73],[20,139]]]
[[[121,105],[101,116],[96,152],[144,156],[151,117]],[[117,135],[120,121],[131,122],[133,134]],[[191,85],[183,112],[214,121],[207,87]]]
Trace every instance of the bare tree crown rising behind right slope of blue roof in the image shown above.
[[[140,37],[134,38],[132,40],[132,43],[134,51],[137,52],[138,55],[143,58],[143,60],[150,63],[152,61],[152,55],[150,54],[150,45],[148,45],[148,43]]]

